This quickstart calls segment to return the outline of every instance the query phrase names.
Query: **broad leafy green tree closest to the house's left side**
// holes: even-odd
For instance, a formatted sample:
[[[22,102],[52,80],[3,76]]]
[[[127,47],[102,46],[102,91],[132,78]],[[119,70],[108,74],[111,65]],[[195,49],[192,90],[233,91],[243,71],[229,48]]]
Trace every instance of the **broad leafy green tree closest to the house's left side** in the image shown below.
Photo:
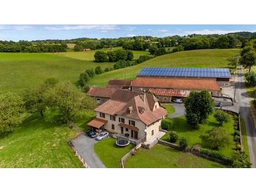
[[[60,82],[48,92],[52,107],[58,108],[63,115],[64,122],[71,121],[79,111],[93,109],[96,101],[82,93],[71,82]]]

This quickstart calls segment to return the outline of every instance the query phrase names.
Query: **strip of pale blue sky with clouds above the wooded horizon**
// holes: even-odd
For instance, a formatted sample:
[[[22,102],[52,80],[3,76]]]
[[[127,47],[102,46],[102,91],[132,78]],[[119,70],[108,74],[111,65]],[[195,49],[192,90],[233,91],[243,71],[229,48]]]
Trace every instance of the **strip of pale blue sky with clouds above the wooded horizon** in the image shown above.
[[[172,36],[256,32],[256,25],[0,25],[0,40],[73,39],[78,37]]]

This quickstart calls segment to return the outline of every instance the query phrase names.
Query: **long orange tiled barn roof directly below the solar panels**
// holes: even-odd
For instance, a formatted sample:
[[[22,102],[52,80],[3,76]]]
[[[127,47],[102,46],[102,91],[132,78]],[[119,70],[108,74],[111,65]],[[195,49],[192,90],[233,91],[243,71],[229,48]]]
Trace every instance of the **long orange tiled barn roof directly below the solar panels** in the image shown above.
[[[212,90],[220,91],[220,84],[215,80],[173,77],[137,77],[132,87],[151,87],[180,90]]]

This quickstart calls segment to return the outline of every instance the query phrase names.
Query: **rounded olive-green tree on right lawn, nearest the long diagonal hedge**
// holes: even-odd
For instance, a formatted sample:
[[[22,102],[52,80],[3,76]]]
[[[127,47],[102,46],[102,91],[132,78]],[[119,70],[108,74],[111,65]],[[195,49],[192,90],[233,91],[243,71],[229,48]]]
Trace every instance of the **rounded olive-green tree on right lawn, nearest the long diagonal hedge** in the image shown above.
[[[226,130],[220,127],[214,127],[212,130],[208,130],[204,135],[205,144],[212,149],[218,149],[225,147],[230,143],[230,137]]]

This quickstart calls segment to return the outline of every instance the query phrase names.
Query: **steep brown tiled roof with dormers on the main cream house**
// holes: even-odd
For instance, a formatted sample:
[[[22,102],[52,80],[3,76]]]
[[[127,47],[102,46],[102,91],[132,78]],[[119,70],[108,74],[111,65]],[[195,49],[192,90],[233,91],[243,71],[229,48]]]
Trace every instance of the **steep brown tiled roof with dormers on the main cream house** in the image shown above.
[[[148,125],[167,114],[163,107],[154,108],[156,102],[159,100],[152,94],[117,90],[109,101],[98,106],[95,111],[138,119]]]

